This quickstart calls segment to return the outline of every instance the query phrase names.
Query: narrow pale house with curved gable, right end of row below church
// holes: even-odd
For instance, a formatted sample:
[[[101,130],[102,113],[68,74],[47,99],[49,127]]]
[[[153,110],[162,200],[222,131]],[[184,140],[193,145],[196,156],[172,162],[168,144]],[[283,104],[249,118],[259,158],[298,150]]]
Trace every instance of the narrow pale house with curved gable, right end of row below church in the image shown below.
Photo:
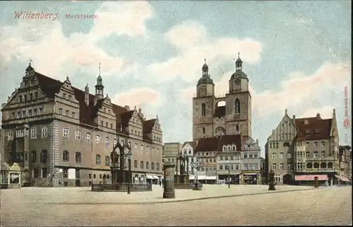
[[[241,184],[261,184],[261,148],[250,136],[241,147]]]

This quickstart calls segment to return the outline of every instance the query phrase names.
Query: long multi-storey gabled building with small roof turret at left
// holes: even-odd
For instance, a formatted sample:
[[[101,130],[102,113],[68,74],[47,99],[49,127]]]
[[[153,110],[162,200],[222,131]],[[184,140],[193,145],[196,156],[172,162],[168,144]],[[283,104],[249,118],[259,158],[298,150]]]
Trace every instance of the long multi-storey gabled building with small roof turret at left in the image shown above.
[[[39,74],[31,65],[2,107],[7,162],[18,162],[25,185],[88,186],[110,181],[110,154],[128,141],[133,182],[162,176],[162,130],[158,117],[121,107],[104,95],[97,76],[95,95]]]

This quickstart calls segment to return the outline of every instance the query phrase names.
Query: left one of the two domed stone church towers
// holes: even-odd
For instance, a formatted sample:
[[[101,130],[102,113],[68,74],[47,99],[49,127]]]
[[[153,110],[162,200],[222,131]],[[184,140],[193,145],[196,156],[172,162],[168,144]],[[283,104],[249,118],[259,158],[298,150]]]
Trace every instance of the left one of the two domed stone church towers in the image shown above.
[[[202,76],[196,86],[193,98],[193,140],[213,136],[213,112],[215,104],[215,83],[208,73],[208,65],[202,66]]]

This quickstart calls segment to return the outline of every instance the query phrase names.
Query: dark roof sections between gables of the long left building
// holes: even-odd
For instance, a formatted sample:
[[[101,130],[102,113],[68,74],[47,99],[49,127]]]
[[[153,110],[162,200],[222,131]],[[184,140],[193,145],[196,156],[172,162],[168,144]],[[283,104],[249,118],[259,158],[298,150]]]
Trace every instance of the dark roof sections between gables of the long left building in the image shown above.
[[[31,71],[34,69],[32,66],[28,66],[26,71]],[[61,86],[63,85],[63,82],[57,81],[53,78],[50,78],[49,76],[44,76],[43,74],[37,73],[34,71],[35,77],[37,78],[37,81],[40,86],[40,90],[47,96],[47,98],[55,98],[55,94],[59,93]],[[97,113],[102,107],[103,100],[97,100],[97,103],[95,105],[95,95],[89,94],[89,102],[88,105],[85,103],[85,92],[78,89],[78,88],[73,88],[73,92],[75,95],[76,100],[78,100],[79,107],[80,107],[80,122],[83,124],[88,124],[91,126],[97,126],[97,123],[95,122],[95,117],[97,117]],[[121,132],[121,126],[124,130],[124,127],[128,125],[129,120],[131,120],[131,117],[133,115],[133,110],[129,111],[126,110],[125,107],[121,107],[119,105],[115,105],[112,103],[112,110],[114,114],[116,115],[116,130]],[[143,134],[152,132],[152,127],[155,124],[155,119],[152,120],[144,120],[143,117],[140,117],[141,121],[143,122]],[[124,134],[128,134],[128,132],[121,132]],[[143,139],[146,139],[148,141],[151,141],[148,136],[146,137],[143,135]]]

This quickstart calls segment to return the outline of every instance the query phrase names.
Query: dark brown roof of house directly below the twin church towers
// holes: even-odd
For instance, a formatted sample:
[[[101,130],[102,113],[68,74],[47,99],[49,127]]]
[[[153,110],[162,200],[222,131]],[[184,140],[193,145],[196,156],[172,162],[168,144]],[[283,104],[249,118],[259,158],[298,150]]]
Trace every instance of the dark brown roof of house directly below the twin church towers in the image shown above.
[[[201,138],[198,140],[196,152],[198,151],[222,151],[223,145],[235,144],[237,151],[241,151],[242,136],[224,135],[220,137]]]

